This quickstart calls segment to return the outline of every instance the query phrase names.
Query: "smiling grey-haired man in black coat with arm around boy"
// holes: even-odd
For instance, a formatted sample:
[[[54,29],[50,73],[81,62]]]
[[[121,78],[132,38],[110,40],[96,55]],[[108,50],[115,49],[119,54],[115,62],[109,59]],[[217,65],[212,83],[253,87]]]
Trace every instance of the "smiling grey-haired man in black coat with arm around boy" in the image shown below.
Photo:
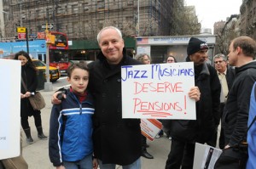
[[[122,119],[121,66],[141,63],[126,55],[117,28],[103,28],[97,41],[102,52],[89,65],[89,89],[95,99],[94,155],[103,169],[110,164],[140,166],[140,119]]]

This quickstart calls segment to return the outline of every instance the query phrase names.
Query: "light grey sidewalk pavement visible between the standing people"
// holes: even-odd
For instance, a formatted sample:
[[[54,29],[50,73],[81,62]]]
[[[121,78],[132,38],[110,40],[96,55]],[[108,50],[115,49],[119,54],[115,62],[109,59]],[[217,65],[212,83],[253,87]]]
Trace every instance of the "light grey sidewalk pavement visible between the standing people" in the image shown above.
[[[54,91],[44,92],[40,91],[45,99],[46,107],[41,110],[42,115],[42,126],[44,128],[44,134],[49,135],[49,115],[52,104],[50,99]],[[23,136],[23,156],[28,163],[29,169],[53,169],[51,162],[49,161],[48,155],[48,140],[39,140],[38,132],[34,125],[33,118],[29,118],[29,124],[32,131],[32,138],[34,139],[34,144],[26,144],[26,136],[22,132]],[[148,152],[154,156],[153,160],[148,160],[142,157],[142,169],[162,169],[165,168],[167,155],[169,154],[171,148],[171,141],[166,138],[154,139],[154,142],[148,141]],[[121,168],[117,166],[117,168]]]

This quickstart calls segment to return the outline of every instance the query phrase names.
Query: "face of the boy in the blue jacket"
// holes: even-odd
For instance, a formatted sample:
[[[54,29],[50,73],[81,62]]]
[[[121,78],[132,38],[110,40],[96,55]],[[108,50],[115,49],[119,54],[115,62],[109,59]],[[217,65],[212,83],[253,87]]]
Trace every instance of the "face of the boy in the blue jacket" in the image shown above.
[[[87,70],[75,68],[70,77],[67,77],[67,82],[71,84],[73,92],[83,94],[88,86],[89,73]]]

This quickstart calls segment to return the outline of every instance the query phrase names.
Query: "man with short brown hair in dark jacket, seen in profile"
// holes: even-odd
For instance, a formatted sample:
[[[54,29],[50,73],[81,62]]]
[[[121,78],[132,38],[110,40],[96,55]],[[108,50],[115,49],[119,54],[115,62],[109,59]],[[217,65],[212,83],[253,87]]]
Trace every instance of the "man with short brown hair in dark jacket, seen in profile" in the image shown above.
[[[230,43],[229,63],[236,66],[236,78],[224,107],[225,147],[214,168],[246,168],[247,122],[250,95],[256,81],[256,42],[251,37],[236,37]]]

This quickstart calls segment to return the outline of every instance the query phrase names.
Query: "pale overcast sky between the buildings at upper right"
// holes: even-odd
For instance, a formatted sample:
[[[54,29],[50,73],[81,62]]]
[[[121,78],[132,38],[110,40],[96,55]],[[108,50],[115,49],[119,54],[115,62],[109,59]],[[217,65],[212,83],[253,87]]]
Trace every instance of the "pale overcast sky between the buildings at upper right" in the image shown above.
[[[195,13],[202,28],[211,28],[231,14],[240,14],[242,0],[185,0],[187,5],[195,6]]]

